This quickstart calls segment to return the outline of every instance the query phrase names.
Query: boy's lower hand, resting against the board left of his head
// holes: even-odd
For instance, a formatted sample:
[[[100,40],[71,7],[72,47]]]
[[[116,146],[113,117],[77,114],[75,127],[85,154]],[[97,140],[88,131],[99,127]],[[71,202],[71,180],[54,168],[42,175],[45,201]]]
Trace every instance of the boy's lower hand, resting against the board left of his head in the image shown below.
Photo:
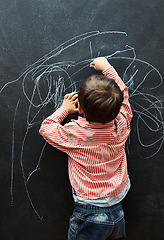
[[[69,114],[78,112],[76,104],[78,103],[78,94],[73,92],[66,94],[63,100],[62,108],[64,108]]]

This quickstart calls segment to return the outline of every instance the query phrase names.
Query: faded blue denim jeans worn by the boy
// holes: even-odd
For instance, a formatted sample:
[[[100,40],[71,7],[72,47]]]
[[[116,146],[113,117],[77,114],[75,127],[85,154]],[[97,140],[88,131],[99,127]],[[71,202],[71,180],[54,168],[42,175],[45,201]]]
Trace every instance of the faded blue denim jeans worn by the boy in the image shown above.
[[[75,203],[68,240],[124,240],[125,219],[121,203],[98,207]]]

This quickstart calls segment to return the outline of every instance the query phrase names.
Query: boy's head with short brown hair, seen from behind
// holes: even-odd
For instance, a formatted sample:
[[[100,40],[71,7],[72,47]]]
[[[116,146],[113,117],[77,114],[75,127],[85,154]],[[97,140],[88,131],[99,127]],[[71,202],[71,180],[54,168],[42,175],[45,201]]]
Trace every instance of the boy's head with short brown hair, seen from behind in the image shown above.
[[[92,75],[80,86],[78,100],[88,122],[105,124],[116,118],[123,93],[113,79]]]

